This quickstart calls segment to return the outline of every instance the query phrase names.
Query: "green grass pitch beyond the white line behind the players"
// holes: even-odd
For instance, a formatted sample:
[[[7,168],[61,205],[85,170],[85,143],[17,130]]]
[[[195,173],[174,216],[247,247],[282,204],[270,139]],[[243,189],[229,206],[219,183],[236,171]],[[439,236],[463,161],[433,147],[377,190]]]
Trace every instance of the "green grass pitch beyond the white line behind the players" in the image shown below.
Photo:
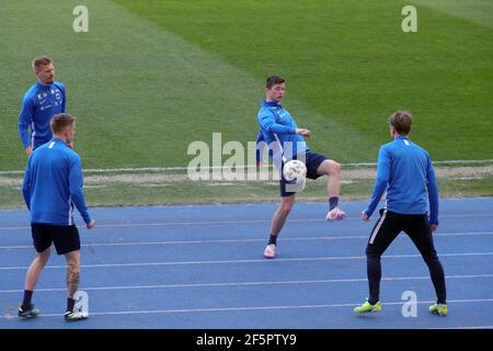
[[[465,1],[4,0],[0,11],[0,171],[25,165],[16,123],[54,58],[78,117],[85,168],[186,166],[193,140],[256,135],[264,79],[287,79],[285,106],[342,162],[375,161],[386,118],[411,111],[434,160],[493,158],[493,3]],[[417,9],[417,33],[401,10]]]

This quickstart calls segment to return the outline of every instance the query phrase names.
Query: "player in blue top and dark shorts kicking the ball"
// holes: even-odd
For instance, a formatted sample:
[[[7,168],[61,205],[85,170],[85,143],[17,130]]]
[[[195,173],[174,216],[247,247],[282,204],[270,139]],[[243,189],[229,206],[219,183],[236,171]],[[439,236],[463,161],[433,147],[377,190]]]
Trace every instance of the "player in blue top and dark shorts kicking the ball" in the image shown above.
[[[267,145],[268,154],[282,176],[279,180],[280,203],[272,218],[271,235],[264,250],[264,257],[267,259],[276,256],[277,237],[296,200],[296,192],[290,191],[289,183],[283,176],[284,163],[288,160],[302,160],[307,167],[307,178],[317,179],[328,176],[329,212],[325,218],[334,220],[346,217],[346,214],[337,207],[341,192],[341,166],[324,155],[310,150],[303,137],[310,137],[311,131],[298,128],[294,117],[280,105],[285,92],[286,81],[284,78],[268,77],[265,84],[266,98],[257,114],[260,125],[257,145],[260,143]]]

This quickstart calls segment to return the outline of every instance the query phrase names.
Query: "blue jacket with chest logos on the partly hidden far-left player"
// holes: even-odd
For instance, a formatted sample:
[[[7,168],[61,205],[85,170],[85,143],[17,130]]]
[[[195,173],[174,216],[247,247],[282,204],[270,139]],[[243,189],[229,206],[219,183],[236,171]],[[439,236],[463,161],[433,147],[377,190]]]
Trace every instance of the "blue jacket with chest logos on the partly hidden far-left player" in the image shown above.
[[[22,99],[21,113],[19,114],[19,135],[24,148],[33,149],[51,139],[49,120],[55,114],[65,112],[65,86],[55,81],[50,86],[36,82]],[[27,133],[27,128],[31,133]]]

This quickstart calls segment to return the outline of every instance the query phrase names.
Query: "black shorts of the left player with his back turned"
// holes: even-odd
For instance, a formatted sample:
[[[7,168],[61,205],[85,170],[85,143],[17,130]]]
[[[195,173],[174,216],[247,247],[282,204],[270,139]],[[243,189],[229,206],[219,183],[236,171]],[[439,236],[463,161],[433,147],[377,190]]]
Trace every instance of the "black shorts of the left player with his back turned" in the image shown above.
[[[53,226],[49,224],[31,224],[33,244],[37,252],[43,252],[55,244],[58,254],[80,250],[80,237],[77,226]]]

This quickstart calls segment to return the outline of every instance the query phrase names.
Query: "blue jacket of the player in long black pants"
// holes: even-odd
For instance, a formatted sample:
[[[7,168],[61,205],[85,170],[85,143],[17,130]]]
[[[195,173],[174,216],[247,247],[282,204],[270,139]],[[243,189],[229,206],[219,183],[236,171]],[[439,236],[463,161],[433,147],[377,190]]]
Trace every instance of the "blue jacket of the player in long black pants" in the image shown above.
[[[377,180],[365,211],[371,216],[387,190],[387,210],[409,215],[426,214],[429,201],[429,222],[438,224],[438,186],[428,152],[406,136],[380,147]],[[426,194],[427,190],[427,194]]]

